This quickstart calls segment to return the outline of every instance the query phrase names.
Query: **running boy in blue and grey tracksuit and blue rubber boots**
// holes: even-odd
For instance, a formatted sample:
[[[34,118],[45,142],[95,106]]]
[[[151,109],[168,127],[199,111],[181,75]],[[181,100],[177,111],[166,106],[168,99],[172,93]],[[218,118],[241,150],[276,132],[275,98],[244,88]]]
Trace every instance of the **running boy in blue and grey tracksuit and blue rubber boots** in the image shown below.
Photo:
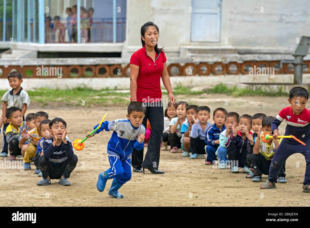
[[[127,119],[104,121],[101,127],[94,133],[113,131],[108,142],[108,159],[110,168],[101,172],[98,176],[97,189],[104,191],[108,179],[112,179],[112,185],[108,194],[114,198],[123,198],[117,190],[131,179],[131,153],[133,148],[144,148],[145,127],[142,124],[146,108],[141,102],[132,101],[127,108]],[[94,129],[98,127],[98,124]],[[88,132],[86,137],[89,136]],[[93,136],[93,135],[92,135]]]

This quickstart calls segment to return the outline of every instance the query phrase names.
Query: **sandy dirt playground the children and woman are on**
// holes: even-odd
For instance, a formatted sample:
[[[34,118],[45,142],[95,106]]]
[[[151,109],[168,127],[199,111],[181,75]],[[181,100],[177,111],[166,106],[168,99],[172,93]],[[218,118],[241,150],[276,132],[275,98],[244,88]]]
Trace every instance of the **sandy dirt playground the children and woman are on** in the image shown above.
[[[238,97],[226,95],[185,95],[176,97],[177,101],[190,104],[208,105],[211,112],[224,107],[239,114],[265,113],[276,116],[281,108],[288,106],[287,97]],[[87,101],[86,101],[87,102]],[[307,106],[309,109],[309,104]],[[27,113],[46,111],[50,119],[61,117],[67,122],[71,141],[83,138],[87,131],[99,123],[107,112],[106,120],[126,118],[123,108],[76,108],[41,109],[31,104]],[[27,114],[26,113],[26,114]],[[212,117],[211,117],[212,118]],[[280,125],[284,133],[286,123]],[[78,156],[77,167],[69,181],[71,186],[61,186],[58,180],[51,180],[49,186],[37,186],[41,180],[31,171],[20,169],[0,169],[1,206],[309,206],[309,195],[302,192],[305,172],[305,159],[302,154],[294,154],[286,162],[286,184],[277,184],[276,189],[261,190],[259,186],[267,180],[254,183],[245,178],[246,174],[233,174],[230,169],[219,170],[204,164],[204,158],[190,160],[181,153],[171,154],[161,151],[159,169],[163,175],[153,175],[149,171],[132,173],[120,193],[123,199],[108,196],[112,180],[100,193],[96,189],[98,174],[109,167],[106,154],[107,143],[112,132],[101,132],[88,139],[85,148],[74,151]],[[2,145],[2,134],[0,137]],[[146,152],[146,149],[145,149]],[[144,154],[145,154],[144,152]],[[3,160],[3,158],[1,158]],[[241,169],[240,169],[241,171]]]

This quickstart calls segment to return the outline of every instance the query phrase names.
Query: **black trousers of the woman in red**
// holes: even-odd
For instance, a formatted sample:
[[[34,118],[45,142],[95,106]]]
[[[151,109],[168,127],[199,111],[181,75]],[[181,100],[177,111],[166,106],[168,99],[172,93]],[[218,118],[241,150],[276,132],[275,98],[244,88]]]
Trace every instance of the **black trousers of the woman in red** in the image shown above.
[[[151,135],[148,140],[148,150],[146,151],[145,158],[143,160],[144,149],[138,151],[134,148],[131,154],[131,165],[136,169],[140,169],[141,167],[158,169],[160,144],[164,131],[164,109],[162,102],[155,104],[148,103],[145,105],[146,112],[142,124],[146,127],[148,119],[152,128]]]

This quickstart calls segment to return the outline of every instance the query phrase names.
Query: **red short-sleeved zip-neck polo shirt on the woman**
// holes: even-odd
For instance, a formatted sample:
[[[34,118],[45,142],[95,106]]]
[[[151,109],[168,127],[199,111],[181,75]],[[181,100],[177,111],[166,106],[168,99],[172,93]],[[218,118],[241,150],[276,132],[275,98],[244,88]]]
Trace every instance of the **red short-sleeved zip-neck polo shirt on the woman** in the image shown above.
[[[155,62],[146,53],[145,46],[133,53],[130,58],[129,64],[139,66],[137,101],[140,102],[152,102],[156,101],[155,99],[162,98],[160,78],[164,69],[164,62],[166,62],[167,58],[164,52],[160,52],[156,48],[155,51]]]

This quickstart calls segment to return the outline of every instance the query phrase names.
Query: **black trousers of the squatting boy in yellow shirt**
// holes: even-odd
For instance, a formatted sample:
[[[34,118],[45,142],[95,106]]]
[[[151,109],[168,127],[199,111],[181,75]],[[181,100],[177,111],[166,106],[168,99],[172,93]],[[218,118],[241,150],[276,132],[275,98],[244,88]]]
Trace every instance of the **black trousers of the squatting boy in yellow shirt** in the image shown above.
[[[254,169],[254,176],[261,176],[263,174],[269,175],[269,168],[271,164],[271,160],[266,160],[263,154],[252,154],[251,161]],[[285,177],[285,163],[282,165],[280,172],[278,173],[279,177]]]

